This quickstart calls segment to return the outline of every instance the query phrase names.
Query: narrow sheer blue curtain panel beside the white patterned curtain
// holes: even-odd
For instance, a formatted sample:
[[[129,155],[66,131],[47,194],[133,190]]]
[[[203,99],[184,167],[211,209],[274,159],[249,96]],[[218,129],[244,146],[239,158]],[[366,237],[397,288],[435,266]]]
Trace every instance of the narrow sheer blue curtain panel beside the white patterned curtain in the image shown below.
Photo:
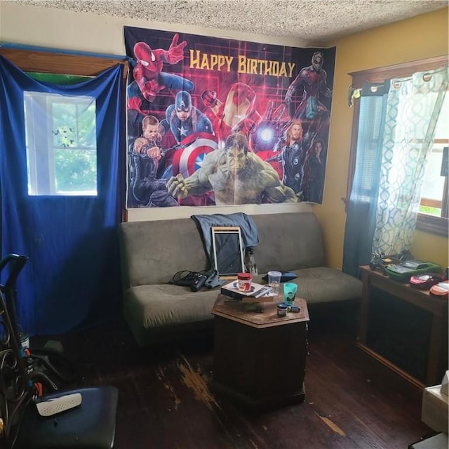
[[[388,82],[366,83],[361,91],[356,166],[343,246],[342,270],[351,276],[358,276],[358,267],[371,259],[388,86]]]

